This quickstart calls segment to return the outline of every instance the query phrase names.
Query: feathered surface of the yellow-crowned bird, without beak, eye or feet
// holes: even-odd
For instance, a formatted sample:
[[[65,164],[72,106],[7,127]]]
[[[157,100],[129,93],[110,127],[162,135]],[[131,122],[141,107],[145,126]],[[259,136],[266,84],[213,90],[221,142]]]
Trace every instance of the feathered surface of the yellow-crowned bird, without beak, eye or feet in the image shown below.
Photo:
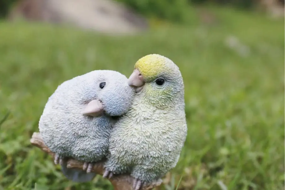
[[[135,68],[147,82],[112,129],[106,169],[150,183],[176,166],[184,145],[184,85],[177,65],[164,56],[147,55]],[[155,84],[159,77],[164,86]]]

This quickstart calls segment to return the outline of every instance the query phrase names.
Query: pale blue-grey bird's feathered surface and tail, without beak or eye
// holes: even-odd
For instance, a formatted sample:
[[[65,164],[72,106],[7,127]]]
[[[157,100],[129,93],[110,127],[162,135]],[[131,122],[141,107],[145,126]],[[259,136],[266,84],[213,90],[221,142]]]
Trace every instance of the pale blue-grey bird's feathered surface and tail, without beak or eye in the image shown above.
[[[106,82],[103,89],[99,87],[102,82]],[[109,135],[116,122],[111,116],[126,113],[133,98],[134,89],[128,86],[125,75],[116,71],[95,70],[65,81],[50,96],[40,117],[43,141],[62,158],[100,161],[106,157]],[[94,99],[103,104],[104,114],[82,115],[82,109]],[[66,167],[62,170],[73,181],[83,182],[92,179],[91,175],[94,177],[86,172],[82,176],[82,171]]]

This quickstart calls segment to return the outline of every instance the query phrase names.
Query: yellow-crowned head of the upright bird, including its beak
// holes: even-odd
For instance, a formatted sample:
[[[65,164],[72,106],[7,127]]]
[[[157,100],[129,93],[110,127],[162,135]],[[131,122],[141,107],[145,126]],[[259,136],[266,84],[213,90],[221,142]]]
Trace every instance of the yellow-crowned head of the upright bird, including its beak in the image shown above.
[[[183,98],[184,84],[181,72],[172,60],[162,55],[151,54],[140,58],[129,77],[129,86],[156,107],[173,106],[173,100]]]

